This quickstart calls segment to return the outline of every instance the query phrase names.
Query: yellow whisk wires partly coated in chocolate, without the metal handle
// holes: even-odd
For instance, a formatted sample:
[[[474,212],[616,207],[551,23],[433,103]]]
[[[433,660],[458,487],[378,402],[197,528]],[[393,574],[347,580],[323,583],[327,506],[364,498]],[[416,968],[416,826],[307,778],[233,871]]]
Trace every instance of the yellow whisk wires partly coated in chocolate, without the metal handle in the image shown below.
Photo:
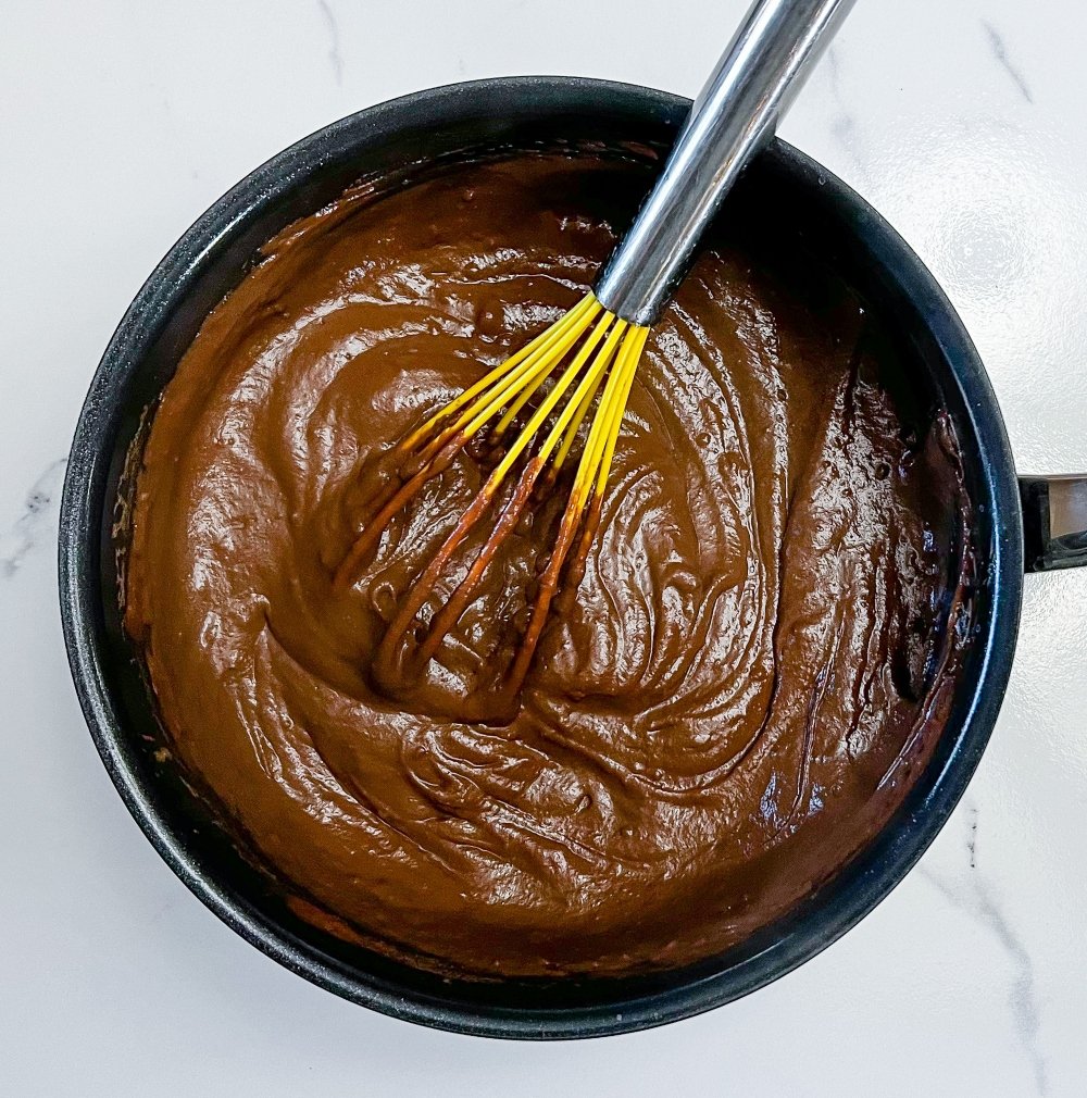
[[[340,586],[354,582],[362,561],[373,551],[389,523],[427,481],[448,469],[468,441],[501,412],[489,438],[492,447],[495,446],[547,380],[567,362],[393,615],[374,653],[373,673],[379,681],[391,687],[411,681],[435,656],[471,604],[486,569],[516,528],[537,485],[554,483],[595,402],[596,411],[559,523],[556,545],[540,573],[525,634],[498,692],[504,704],[516,704],[563,564],[576,539],[574,560],[576,568],[582,568],[599,520],[601,500],[619,427],[648,334],[647,327],[617,317],[589,293],[550,328],[429,416],[394,449],[393,458],[402,460],[406,479],[399,486],[395,480],[386,484],[366,508],[372,517],[365,520],[359,537],[336,572],[334,582]],[[572,358],[567,361],[571,352]],[[549,421],[547,434],[525,462],[493,529],[467,572],[435,610],[428,625],[415,626],[452,557],[491,511],[512,469],[531,449]],[[580,582],[580,572],[574,582]],[[404,641],[413,628],[416,643],[414,651],[408,651],[411,646]]]

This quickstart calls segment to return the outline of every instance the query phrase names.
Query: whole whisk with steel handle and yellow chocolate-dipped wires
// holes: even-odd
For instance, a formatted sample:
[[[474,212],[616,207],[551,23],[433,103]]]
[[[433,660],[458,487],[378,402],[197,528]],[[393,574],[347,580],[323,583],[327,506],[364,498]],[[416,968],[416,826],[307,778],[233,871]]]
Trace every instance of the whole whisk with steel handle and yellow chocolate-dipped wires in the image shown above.
[[[650,326],[686,273],[721,199],[772,136],[852,3],[755,0],[595,288],[394,447],[395,475],[363,507],[361,531],[335,575],[340,590],[356,582],[395,516],[473,439],[485,436],[490,452],[501,457],[393,613],[373,659],[373,674],[385,688],[395,693],[423,673],[526,508],[552,490],[581,440],[573,485],[553,549],[539,570],[527,626],[501,685],[474,716],[503,719],[516,712],[560,583],[580,583]],[[582,430],[586,421],[587,433]],[[458,549],[495,508],[492,529],[463,579],[429,621],[417,625]],[[473,716],[467,709],[464,715]]]

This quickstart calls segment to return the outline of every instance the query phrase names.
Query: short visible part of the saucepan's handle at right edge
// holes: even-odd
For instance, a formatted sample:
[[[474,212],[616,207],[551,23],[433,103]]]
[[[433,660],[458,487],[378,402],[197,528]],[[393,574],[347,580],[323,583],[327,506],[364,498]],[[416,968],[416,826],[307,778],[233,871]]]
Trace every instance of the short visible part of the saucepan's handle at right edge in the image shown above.
[[[1087,473],[1020,477],[1028,572],[1087,564]]]

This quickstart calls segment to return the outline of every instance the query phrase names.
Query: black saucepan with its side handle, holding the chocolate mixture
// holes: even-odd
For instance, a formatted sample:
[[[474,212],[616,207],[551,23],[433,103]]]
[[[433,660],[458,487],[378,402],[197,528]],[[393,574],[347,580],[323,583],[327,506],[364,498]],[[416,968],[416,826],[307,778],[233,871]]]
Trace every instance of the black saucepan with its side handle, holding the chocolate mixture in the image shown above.
[[[727,1002],[818,953],[903,878],[966,787],[1008,680],[1024,562],[1042,570],[1087,561],[1087,478],[1017,479],[977,352],[931,274],[849,188],[775,142],[726,209],[746,204],[752,219],[772,216],[842,273],[909,349],[912,389],[931,411],[948,410],[963,449],[979,554],[977,635],[930,764],[883,831],[831,881],[742,944],[682,971],[450,982],[345,944],[292,912],[212,805],[157,751],[164,732],[121,628],[125,492],[146,410],[260,246],[358,178],[403,176],[413,165],[504,146],[665,147],[688,108],[675,96],[598,80],[498,79],[407,96],[334,123],[254,171],[170,249],[110,341],[79,417],[60,517],[60,608],[76,688],[121,796],[173,872],[238,933],[322,987],[400,1018],[511,1038],[616,1033]]]

